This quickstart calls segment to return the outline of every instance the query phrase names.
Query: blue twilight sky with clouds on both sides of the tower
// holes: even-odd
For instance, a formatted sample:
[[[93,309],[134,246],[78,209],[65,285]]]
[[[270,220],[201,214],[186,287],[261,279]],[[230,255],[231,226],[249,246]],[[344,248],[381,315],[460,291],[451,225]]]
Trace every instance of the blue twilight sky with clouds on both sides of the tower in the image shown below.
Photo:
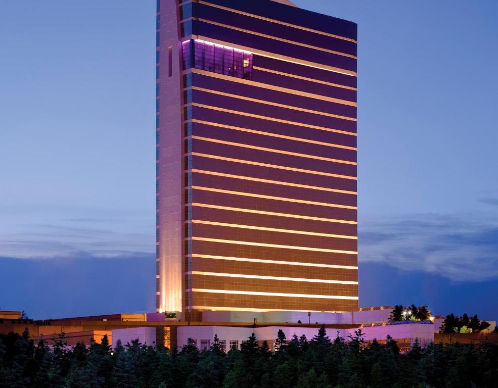
[[[155,3],[0,5],[0,309],[154,309]],[[358,23],[360,306],[498,319],[498,2],[295,3]]]

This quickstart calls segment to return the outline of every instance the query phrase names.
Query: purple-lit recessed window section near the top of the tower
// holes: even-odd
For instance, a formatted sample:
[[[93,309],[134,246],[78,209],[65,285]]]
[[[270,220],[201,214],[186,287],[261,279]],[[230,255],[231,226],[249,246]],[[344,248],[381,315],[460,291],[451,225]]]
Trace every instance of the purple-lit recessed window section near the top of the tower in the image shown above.
[[[202,40],[183,43],[184,69],[191,67],[232,77],[252,78],[252,53]]]

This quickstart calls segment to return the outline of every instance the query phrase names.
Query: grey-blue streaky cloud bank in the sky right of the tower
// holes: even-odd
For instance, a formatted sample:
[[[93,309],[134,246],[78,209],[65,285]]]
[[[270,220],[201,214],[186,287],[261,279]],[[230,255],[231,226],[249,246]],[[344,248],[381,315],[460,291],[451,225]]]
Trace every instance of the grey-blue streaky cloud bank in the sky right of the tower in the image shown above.
[[[498,222],[472,215],[412,215],[360,227],[360,261],[457,281],[498,278]]]

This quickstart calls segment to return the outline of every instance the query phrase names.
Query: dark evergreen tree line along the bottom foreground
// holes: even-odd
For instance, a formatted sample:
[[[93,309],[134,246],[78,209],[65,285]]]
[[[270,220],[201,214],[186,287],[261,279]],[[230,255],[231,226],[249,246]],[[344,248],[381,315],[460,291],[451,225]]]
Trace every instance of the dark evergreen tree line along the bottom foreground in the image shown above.
[[[333,340],[325,326],[308,340],[282,330],[275,349],[251,335],[225,353],[217,337],[208,350],[193,340],[179,350],[132,341],[111,349],[107,337],[70,348],[64,336],[50,348],[22,336],[0,335],[0,386],[35,388],[466,388],[498,386],[498,346],[416,341],[367,344],[361,330]]]

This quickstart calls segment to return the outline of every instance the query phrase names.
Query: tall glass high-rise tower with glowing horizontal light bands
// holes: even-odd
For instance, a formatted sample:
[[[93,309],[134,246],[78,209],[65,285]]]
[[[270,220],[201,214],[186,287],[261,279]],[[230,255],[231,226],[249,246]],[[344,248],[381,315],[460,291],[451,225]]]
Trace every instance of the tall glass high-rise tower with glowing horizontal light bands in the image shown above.
[[[356,24],[157,8],[157,310],[356,310]]]

